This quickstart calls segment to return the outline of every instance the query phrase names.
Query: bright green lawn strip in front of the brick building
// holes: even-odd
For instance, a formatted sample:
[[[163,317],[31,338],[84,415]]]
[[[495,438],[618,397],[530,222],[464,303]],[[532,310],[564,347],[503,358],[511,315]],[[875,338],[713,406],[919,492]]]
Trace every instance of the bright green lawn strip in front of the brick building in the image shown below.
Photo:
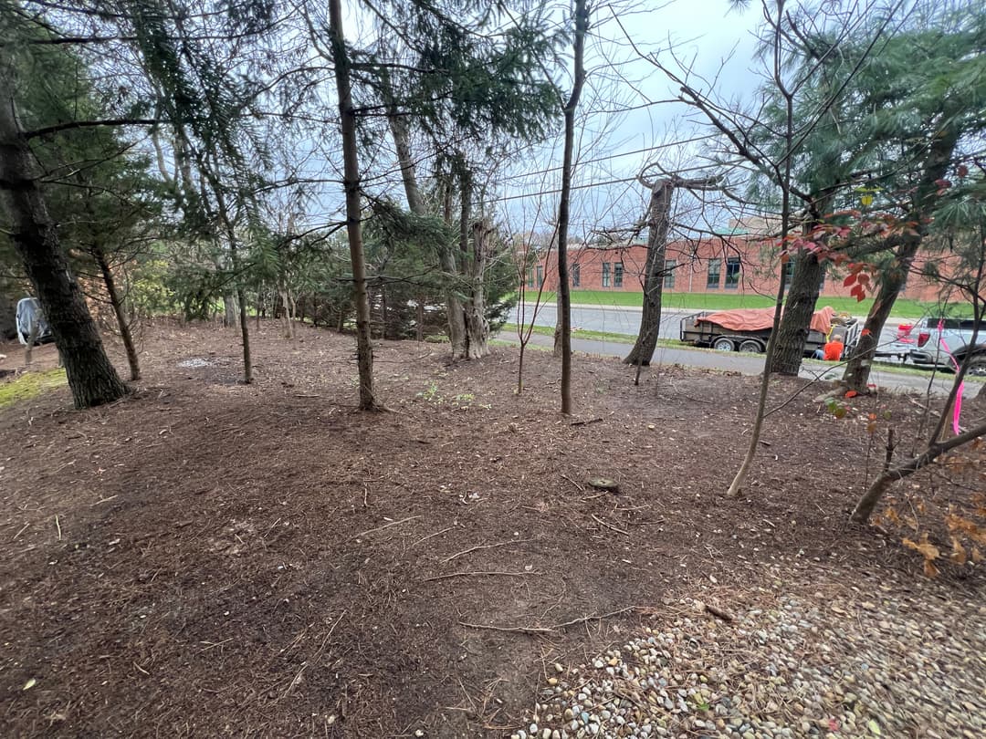
[[[528,302],[533,301],[533,295],[528,293]],[[643,293],[621,293],[607,290],[573,290],[572,303],[577,305],[625,305],[640,307],[643,302]],[[544,293],[541,302],[555,302],[554,293]],[[729,310],[739,307],[769,307],[774,304],[772,298],[765,296],[722,293],[722,294],[692,294],[692,293],[665,293],[663,305],[667,308],[681,310]],[[858,302],[854,298],[826,298],[822,296],[818,299],[818,305],[831,305],[836,312],[846,311],[853,315],[866,315],[873,299]],[[961,312],[961,305],[953,304],[950,313]],[[929,313],[938,313],[939,310],[935,303],[917,302],[907,299],[900,299],[893,303],[894,318],[920,318]]]

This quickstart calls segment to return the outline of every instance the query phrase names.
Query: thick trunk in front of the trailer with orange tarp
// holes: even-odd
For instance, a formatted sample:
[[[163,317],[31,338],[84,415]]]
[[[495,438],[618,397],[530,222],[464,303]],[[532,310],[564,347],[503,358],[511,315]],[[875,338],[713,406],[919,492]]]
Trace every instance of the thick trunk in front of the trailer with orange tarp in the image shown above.
[[[792,257],[795,269],[784,302],[784,314],[777,328],[777,346],[770,361],[770,371],[797,375],[805,357],[805,342],[811,326],[811,315],[818,302],[818,289],[824,267],[810,251],[800,250]]]

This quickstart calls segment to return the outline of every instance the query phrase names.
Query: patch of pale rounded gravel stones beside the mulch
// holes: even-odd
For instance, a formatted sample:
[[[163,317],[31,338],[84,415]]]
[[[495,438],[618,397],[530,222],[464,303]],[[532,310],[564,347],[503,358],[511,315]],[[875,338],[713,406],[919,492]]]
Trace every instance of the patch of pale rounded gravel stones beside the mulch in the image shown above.
[[[986,736],[981,593],[825,580],[748,588],[731,622],[669,603],[588,663],[549,664],[513,739]],[[736,593],[703,597],[721,608]]]

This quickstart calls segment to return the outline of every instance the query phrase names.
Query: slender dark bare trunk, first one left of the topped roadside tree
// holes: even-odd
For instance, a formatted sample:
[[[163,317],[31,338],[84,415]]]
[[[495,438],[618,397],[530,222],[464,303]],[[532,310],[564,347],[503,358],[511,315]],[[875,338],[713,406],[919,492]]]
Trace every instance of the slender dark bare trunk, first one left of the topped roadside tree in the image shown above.
[[[575,69],[572,95],[565,103],[565,152],[561,166],[561,196],[558,202],[558,295],[561,303],[561,412],[572,413],[572,294],[568,284],[568,221],[572,196],[572,160],[575,151],[575,111],[586,83],[583,67],[589,11],[586,0],[575,0]]]

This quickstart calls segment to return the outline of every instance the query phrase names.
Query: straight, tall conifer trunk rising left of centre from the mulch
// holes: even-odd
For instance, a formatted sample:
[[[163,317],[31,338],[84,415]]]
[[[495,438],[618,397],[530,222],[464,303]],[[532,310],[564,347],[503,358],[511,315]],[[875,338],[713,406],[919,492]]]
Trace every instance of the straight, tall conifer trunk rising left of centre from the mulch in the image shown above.
[[[340,0],[328,0],[329,34],[335,87],[342,122],[343,189],[346,193],[346,234],[353,267],[353,302],[356,306],[356,358],[360,377],[360,410],[377,408],[373,390],[373,344],[370,340],[370,301],[367,297],[366,261],[363,254],[363,230],[360,206],[359,149],[356,140],[356,113],[353,110],[349,81],[349,59],[342,33]]]

